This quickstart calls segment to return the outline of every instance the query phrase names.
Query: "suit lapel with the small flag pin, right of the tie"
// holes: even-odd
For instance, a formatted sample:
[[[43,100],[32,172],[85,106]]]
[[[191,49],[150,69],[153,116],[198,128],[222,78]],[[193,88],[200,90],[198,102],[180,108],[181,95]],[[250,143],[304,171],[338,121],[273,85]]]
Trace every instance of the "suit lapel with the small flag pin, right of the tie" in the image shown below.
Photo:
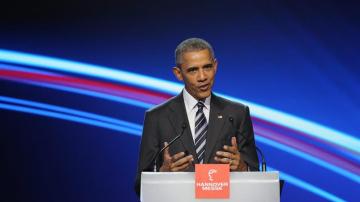
[[[214,149],[216,141],[218,137],[220,137],[222,127],[224,126],[226,117],[223,114],[223,109],[223,103],[216,95],[212,94],[210,103],[209,126],[205,145],[204,163],[209,162],[212,150]]]

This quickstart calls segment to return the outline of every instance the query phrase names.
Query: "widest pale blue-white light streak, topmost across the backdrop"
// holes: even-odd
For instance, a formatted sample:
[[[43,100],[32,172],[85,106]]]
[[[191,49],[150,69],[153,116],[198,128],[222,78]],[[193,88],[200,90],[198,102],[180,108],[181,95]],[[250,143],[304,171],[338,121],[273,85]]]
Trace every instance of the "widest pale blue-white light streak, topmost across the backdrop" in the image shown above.
[[[130,85],[141,86],[146,89],[152,89],[169,94],[177,94],[183,88],[183,85],[178,83],[127,71],[115,70],[109,67],[4,49],[0,49],[0,61],[97,77],[101,79],[127,83]],[[360,139],[349,134],[285,112],[270,109],[253,102],[226,95],[222,96],[227,97],[230,100],[249,105],[254,116],[292,128],[294,130],[303,131],[316,138],[320,138],[335,145],[340,145],[344,148],[360,153]]]

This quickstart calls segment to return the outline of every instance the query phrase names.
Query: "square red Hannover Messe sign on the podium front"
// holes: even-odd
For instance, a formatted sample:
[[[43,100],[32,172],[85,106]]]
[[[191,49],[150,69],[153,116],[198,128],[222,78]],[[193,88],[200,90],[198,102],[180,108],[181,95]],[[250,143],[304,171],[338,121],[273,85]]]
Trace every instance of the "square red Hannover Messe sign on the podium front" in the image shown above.
[[[195,165],[195,198],[229,198],[229,164]]]

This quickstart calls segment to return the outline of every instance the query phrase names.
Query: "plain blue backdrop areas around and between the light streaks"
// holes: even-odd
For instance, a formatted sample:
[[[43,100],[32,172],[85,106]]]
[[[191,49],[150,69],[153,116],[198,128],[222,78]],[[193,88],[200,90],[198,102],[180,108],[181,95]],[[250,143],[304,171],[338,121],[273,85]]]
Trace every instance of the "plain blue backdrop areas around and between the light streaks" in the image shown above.
[[[1,49],[174,82],[176,45],[204,38],[219,62],[216,92],[360,136],[356,1],[40,1],[1,9]],[[138,124],[145,111],[6,80],[0,92]],[[139,136],[7,110],[0,117],[5,201],[137,200]],[[260,146],[268,164],[345,200],[359,199],[359,184]],[[324,199],[287,184],[282,200]]]

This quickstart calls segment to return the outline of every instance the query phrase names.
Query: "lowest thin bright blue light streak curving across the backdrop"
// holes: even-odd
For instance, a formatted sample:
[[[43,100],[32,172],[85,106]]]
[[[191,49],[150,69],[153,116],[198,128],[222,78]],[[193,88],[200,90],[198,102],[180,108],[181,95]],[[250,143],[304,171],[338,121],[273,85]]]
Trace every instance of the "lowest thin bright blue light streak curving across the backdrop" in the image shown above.
[[[96,126],[96,127],[107,128],[107,129],[111,129],[111,130],[125,132],[125,133],[131,134],[131,135],[137,135],[137,136],[141,135],[141,130],[129,128],[126,126],[126,124],[124,126],[118,126],[115,124],[104,123],[102,121],[96,121],[96,120],[91,120],[91,119],[87,119],[87,118],[76,117],[73,115],[62,114],[59,112],[51,112],[51,111],[47,111],[47,110],[34,109],[31,107],[17,106],[17,105],[12,105],[12,104],[0,103],[0,108],[6,109],[6,110],[13,110],[13,111],[18,111],[18,112],[36,114],[36,115],[41,115],[41,116],[46,116],[46,117],[52,117],[52,118],[57,118],[57,119],[62,119],[62,120],[67,120],[67,121],[83,123],[83,124],[92,125],[92,126]],[[130,125],[133,126],[136,124],[131,123]],[[268,167],[268,168],[273,169],[271,167]],[[315,195],[318,195],[322,198],[325,198],[325,199],[328,199],[331,201],[339,201],[339,202],[345,201],[345,200],[343,200],[323,189],[320,189],[312,184],[309,184],[305,181],[295,178],[289,174],[283,173],[282,171],[279,171],[279,172],[280,172],[280,176],[282,179],[284,179],[287,183],[293,184],[296,187],[307,190],[311,193],[314,193]]]

